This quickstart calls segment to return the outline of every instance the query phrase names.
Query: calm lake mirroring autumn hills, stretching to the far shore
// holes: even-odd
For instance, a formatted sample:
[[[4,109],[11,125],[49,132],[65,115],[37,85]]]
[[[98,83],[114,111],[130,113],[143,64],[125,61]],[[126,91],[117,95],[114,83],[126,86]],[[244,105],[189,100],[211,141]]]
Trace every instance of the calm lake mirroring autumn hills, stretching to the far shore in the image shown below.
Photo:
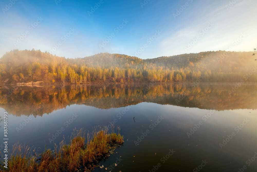
[[[2,88],[10,150],[17,142],[53,148],[75,127],[92,132],[114,124],[125,142],[94,171],[257,170],[256,84]]]

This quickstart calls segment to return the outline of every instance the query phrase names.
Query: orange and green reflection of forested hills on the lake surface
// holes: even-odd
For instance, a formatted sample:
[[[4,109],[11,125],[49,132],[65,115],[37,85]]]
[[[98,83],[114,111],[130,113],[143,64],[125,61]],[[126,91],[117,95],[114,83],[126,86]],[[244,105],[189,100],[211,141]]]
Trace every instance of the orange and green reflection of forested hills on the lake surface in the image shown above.
[[[242,85],[231,93],[232,84],[141,84],[5,86],[0,92],[0,107],[20,116],[42,116],[67,105],[84,104],[99,109],[120,108],[141,102],[170,104],[199,109],[256,109],[256,84]],[[230,94],[231,93],[231,94]]]

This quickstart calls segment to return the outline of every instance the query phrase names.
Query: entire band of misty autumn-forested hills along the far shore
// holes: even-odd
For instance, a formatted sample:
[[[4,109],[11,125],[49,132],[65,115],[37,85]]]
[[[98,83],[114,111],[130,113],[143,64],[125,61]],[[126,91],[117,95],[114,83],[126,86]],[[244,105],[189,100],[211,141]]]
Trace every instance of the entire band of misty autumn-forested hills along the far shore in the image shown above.
[[[199,78],[256,82],[256,64],[252,52],[212,51],[154,59],[99,53],[66,59],[40,50],[12,50],[0,59],[0,84],[192,82]]]

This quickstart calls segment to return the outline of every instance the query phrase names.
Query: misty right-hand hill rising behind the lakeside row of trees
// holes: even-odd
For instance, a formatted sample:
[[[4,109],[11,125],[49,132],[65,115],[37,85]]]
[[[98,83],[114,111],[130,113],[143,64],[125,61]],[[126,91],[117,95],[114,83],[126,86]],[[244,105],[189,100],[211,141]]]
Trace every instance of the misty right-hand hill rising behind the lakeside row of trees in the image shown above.
[[[208,68],[213,72],[247,72],[253,65],[252,52],[208,51],[200,53],[162,56],[145,59],[145,63],[153,63],[168,68],[185,68],[195,66],[197,69]]]

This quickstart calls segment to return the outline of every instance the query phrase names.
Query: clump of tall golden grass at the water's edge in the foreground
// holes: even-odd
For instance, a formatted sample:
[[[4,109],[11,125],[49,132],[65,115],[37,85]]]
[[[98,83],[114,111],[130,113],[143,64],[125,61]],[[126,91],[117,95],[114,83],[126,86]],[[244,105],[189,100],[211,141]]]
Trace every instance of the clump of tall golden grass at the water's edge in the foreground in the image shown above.
[[[106,127],[96,127],[92,133],[87,134],[87,138],[83,128],[75,128],[70,139],[69,144],[63,140],[59,147],[55,144],[54,150],[45,148],[40,154],[33,147],[17,143],[13,145],[8,168],[4,168],[1,161],[0,169],[9,172],[90,171],[111,149],[124,142],[119,127],[117,133],[113,130],[108,133]]]

